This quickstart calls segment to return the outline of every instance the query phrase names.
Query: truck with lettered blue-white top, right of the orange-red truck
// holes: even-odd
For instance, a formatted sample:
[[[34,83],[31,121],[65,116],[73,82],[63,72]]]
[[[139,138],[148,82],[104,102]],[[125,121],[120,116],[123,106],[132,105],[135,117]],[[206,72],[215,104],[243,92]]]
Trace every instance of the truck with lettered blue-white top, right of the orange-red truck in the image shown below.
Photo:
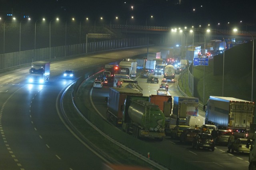
[[[188,116],[198,116],[198,98],[174,96],[171,117],[176,125],[185,125]]]

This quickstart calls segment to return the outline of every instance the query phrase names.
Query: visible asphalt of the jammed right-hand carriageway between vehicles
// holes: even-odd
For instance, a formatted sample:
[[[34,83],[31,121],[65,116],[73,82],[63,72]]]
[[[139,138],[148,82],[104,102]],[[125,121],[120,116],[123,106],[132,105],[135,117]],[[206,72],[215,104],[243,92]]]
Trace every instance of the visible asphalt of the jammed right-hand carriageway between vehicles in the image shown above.
[[[160,75],[152,75],[156,76],[159,79],[163,77]],[[176,75],[178,78],[179,75]],[[137,77],[140,87],[143,89],[143,96],[149,96],[150,94],[156,94],[156,90],[159,88],[159,84],[147,83],[146,78]],[[168,83],[169,84],[169,93],[172,96],[181,96],[180,92],[176,87],[176,83]],[[95,108],[98,109],[98,113],[102,115],[102,117],[106,118],[106,107],[107,104],[105,102],[105,97],[108,96],[108,87],[103,87],[102,89],[92,89],[92,102]],[[200,111],[201,116],[204,116],[204,112]],[[196,164],[200,168],[211,170],[242,170],[248,168],[248,154],[230,154],[227,153],[227,147],[224,145],[217,145],[215,147],[215,151],[212,152],[210,150],[196,150],[192,148],[192,145],[185,145],[180,143],[176,139],[171,139],[170,137],[166,137],[162,142],[157,142],[154,140],[144,140],[147,143],[151,143],[155,147],[162,149],[165,152],[170,152],[170,154],[175,157],[180,158],[180,162],[186,161],[191,164]],[[174,167],[175,169],[175,167]]]

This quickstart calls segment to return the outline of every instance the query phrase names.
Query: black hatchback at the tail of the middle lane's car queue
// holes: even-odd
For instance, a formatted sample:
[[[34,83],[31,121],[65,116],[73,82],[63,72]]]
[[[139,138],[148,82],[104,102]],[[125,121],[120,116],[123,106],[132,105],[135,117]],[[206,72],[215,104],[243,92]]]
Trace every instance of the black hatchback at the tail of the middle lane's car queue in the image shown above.
[[[212,138],[212,135],[207,134],[207,133],[198,133],[196,136],[193,137],[192,140],[192,148],[196,149],[211,149],[214,151],[214,140]]]

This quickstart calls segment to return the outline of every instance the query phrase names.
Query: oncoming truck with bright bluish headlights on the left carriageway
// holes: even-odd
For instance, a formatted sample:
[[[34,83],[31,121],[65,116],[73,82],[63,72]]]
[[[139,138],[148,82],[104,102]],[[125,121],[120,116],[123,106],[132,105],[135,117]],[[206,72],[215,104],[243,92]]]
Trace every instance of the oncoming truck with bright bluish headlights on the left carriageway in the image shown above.
[[[31,63],[29,73],[29,83],[47,82],[50,78],[50,62],[36,61]]]

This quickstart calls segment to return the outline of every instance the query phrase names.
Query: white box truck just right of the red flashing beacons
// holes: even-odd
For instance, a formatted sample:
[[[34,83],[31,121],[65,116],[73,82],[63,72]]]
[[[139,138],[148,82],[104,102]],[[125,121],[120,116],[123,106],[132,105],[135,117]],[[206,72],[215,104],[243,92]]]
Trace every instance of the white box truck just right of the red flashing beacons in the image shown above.
[[[125,59],[125,61],[120,61],[117,74],[129,75],[129,78],[136,77],[137,61],[132,59]]]

